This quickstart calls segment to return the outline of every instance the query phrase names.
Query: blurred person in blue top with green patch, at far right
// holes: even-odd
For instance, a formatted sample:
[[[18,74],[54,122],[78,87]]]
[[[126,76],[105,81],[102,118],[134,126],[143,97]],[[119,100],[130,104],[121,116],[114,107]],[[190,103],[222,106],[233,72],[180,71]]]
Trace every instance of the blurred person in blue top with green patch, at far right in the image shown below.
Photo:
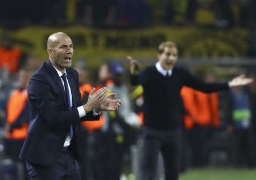
[[[255,147],[251,131],[251,109],[249,94],[243,87],[230,91],[230,125],[228,131],[234,138],[232,152],[233,165],[253,167],[255,164]]]

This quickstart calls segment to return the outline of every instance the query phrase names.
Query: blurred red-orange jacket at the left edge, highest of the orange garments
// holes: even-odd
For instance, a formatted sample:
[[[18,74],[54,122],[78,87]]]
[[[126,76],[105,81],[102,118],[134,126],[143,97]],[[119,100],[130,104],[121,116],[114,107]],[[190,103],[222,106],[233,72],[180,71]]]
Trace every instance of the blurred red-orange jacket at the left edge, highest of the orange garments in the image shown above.
[[[0,47],[0,67],[7,66],[11,73],[18,71],[21,51],[18,48],[5,49]]]

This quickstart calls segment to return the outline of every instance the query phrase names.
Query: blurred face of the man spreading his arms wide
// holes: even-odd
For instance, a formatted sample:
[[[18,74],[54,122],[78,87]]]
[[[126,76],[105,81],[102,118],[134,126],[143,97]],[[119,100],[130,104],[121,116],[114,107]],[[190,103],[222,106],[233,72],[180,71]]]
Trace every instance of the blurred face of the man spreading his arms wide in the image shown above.
[[[177,48],[165,47],[162,54],[158,54],[158,61],[165,70],[174,68],[177,61]]]

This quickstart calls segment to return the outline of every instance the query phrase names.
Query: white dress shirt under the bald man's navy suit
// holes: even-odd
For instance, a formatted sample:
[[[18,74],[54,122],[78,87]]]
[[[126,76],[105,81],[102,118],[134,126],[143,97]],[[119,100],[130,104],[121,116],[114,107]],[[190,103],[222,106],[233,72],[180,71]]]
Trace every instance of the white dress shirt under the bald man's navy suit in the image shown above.
[[[53,65],[52,65],[53,66]],[[67,78],[67,72],[66,72],[66,69],[64,69],[64,72],[61,73],[55,66],[53,66],[55,68],[55,70],[57,71],[57,74],[60,76],[60,80],[62,82],[62,85],[63,85],[63,88],[65,89],[65,85],[64,85],[64,81],[63,79],[61,78],[61,76],[65,73],[66,74],[66,79],[67,79],[67,83],[68,83],[68,78]],[[71,93],[71,88],[69,86],[69,83],[68,83],[68,90],[69,90],[69,102],[70,102],[70,106],[72,107],[73,103],[72,103],[72,93]],[[79,106],[77,108],[78,112],[79,112],[79,117],[84,117],[86,115],[85,113],[85,110],[84,110],[84,107],[83,106]],[[101,113],[101,112],[100,112]],[[96,116],[100,113],[96,113],[95,109],[93,109],[93,115]],[[68,147],[71,143],[71,137],[69,135],[69,132],[66,136],[66,139],[65,139],[65,142],[64,142],[64,147]]]

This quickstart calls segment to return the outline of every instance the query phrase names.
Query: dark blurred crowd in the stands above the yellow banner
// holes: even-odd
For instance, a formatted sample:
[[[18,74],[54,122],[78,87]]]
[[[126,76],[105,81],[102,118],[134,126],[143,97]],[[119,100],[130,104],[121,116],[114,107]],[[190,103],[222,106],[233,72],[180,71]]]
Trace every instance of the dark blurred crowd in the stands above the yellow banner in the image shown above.
[[[253,0],[4,1],[0,26],[78,24],[100,28],[154,25],[254,27]]]

